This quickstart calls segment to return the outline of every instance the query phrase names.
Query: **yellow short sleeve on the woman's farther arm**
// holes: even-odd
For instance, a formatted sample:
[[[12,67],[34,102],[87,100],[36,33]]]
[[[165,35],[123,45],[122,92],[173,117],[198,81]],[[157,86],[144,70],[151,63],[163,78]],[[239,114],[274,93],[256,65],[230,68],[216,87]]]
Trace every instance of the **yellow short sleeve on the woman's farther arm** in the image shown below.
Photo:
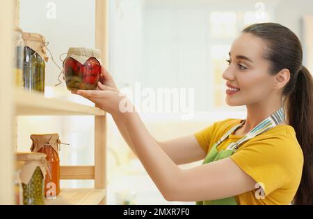
[[[200,144],[201,148],[204,150],[204,152],[207,152],[209,150],[209,145],[212,139],[212,136],[216,130],[216,128],[218,127],[220,121],[215,122],[211,125],[209,125],[209,127],[204,128],[202,130],[200,130],[199,132],[195,132],[194,136],[195,139],[198,140],[198,143]]]

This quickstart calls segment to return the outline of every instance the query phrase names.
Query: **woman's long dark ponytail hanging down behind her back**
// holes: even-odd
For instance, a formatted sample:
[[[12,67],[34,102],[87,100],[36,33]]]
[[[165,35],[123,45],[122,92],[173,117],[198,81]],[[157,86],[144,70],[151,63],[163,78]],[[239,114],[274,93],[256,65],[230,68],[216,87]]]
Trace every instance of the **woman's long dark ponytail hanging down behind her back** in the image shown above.
[[[304,66],[296,76],[294,91],[287,96],[288,123],[304,155],[303,173],[293,204],[313,204],[313,79]]]

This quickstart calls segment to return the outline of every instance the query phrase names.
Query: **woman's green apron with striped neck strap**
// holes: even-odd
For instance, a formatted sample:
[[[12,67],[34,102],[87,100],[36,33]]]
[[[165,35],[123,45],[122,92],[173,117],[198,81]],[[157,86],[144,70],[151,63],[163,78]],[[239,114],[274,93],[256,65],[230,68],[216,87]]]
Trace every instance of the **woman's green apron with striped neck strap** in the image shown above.
[[[226,150],[220,150],[218,151],[216,148],[222,143],[225,139],[227,139],[230,134],[232,134],[237,128],[240,128],[246,121],[241,121],[239,125],[235,125],[233,128],[228,130],[226,134],[223,135],[223,137],[218,140],[218,142],[214,143],[211,150],[209,151],[209,154],[204,159],[202,164],[208,164],[213,161],[218,161],[220,159],[225,159],[227,157],[230,157],[238,150],[239,145],[243,143],[244,141],[248,141],[249,139],[252,139],[253,137],[256,137],[258,134],[261,134],[262,132],[266,132],[267,130],[275,127],[276,125],[282,123],[284,121],[284,108],[281,107],[278,111],[271,114],[271,116],[268,116],[268,118],[264,119],[259,125],[255,126],[250,132],[248,132],[244,137],[239,139],[239,141],[230,143],[229,146],[227,146]],[[200,201],[195,202],[196,205],[237,205],[236,200],[234,197],[230,198],[223,198],[220,200],[207,200],[207,201]]]

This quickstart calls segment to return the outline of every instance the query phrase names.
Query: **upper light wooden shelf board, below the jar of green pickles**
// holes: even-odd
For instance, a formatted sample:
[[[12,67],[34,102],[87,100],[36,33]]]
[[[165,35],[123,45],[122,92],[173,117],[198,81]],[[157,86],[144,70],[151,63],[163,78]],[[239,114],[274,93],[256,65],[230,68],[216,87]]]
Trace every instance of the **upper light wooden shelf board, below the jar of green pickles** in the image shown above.
[[[15,90],[15,114],[17,116],[104,116],[98,107],[91,107],[68,100],[45,98],[42,94]]]

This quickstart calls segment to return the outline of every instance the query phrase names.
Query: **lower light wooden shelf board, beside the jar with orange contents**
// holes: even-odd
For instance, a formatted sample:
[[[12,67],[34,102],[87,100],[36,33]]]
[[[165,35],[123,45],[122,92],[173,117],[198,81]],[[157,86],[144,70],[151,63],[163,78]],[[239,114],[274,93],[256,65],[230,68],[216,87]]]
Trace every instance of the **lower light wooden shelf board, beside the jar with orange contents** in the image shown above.
[[[56,199],[46,199],[46,205],[98,205],[106,189],[62,189]]]

